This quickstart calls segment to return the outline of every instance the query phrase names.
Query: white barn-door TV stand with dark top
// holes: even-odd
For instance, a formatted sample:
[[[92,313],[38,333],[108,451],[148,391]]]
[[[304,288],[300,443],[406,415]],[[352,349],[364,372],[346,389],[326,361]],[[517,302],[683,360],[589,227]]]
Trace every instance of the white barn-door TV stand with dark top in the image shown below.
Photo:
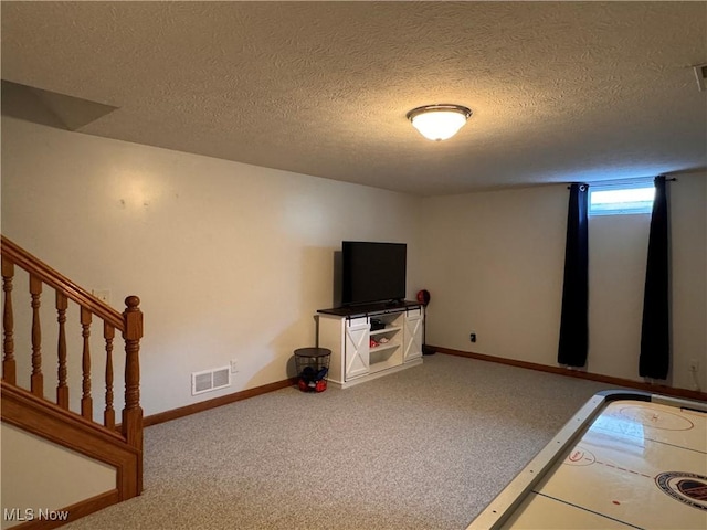
[[[422,364],[424,312],[416,301],[317,311],[317,339],[331,350],[328,382],[342,389]],[[371,330],[371,320],[380,322]],[[381,327],[382,325],[382,327]]]

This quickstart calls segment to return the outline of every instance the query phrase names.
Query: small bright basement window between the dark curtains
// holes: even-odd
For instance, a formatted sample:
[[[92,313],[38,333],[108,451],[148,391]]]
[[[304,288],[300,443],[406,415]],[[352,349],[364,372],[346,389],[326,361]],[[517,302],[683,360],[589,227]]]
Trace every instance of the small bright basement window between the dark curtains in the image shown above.
[[[589,187],[589,214],[651,213],[654,195],[653,180],[592,184]]]

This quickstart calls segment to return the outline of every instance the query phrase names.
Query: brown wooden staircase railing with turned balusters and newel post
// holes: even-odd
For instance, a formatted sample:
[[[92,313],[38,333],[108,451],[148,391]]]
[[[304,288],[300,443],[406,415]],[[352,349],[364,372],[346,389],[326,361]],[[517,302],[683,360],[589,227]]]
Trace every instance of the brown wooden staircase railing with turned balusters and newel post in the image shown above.
[[[60,273],[29,254],[27,251],[14,244],[12,241],[2,236],[2,290],[3,290],[3,312],[2,312],[2,391],[8,393],[9,388],[18,389],[18,358],[15,352],[15,330],[14,330],[14,308],[13,308],[13,279],[15,268],[23,269],[29,274],[29,293],[31,317],[31,352],[22,352],[22,354],[31,354],[31,374],[29,377],[29,389],[18,390],[25,392],[28,399],[43,400],[52,402],[51,410],[54,407],[62,411],[61,415],[80,415],[81,422],[76,424],[93,425],[92,428],[103,428],[108,434],[106,439],[115,439],[116,436],[124,444],[129,446],[136,455],[137,465],[134,470],[134,477],[128,483],[134,483],[134,487],[123,488],[120,500],[130,496],[139,495],[143,490],[143,409],[140,407],[140,390],[139,390],[139,349],[140,339],[143,337],[143,312],[139,309],[139,298],[137,296],[128,296],[125,300],[126,309],[123,314],[104,304],[94,297],[86,289],[77,286]],[[56,360],[53,365],[56,369],[56,393],[55,400],[48,400],[44,389],[44,371],[48,365],[46,353],[42,344],[42,294],[43,288],[49,287],[54,290],[54,310],[56,311],[57,342],[56,342]],[[15,295],[17,297],[17,295]],[[70,303],[74,303],[78,307],[80,326],[81,326],[81,401],[80,411],[70,410],[70,388],[68,388],[68,348],[67,348],[67,309]],[[91,352],[91,331],[92,324],[96,320],[102,321],[103,340],[105,341],[105,410],[103,411],[103,423],[94,422],[93,406],[93,389],[92,389],[92,352]],[[125,342],[125,404],[122,414],[122,421],[116,425],[114,410],[114,339],[118,331]],[[27,363],[29,364],[29,363]],[[14,391],[13,391],[14,392]],[[17,392],[15,392],[17,393]],[[31,395],[30,395],[31,394]],[[14,394],[13,394],[14,395]],[[4,398],[4,395],[3,395]],[[54,406],[54,404],[56,406]],[[4,406],[3,406],[4,409]],[[9,410],[9,409],[8,409]],[[44,414],[44,413],[43,413]],[[7,418],[3,410],[3,421],[14,423],[15,415]],[[75,447],[74,447],[75,448]],[[89,452],[95,454],[95,447],[91,447]],[[87,451],[88,453],[88,451]],[[95,456],[95,455],[94,455]],[[125,469],[123,473],[126,473]],[[127,497],[126,497],[127,496]]]

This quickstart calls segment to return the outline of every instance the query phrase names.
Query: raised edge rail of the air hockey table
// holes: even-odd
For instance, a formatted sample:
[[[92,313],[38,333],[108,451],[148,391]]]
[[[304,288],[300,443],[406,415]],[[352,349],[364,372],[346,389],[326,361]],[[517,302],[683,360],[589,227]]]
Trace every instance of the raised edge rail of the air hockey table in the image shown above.
[[[707,403],[680,400],[650,392],[608,390],[594,394],[558,434],[524,467],[498,496],[472,521],[466,530],[498,530],[523,502],[526,495],[555,464],[563,458],[602,410],[614,401],[633,400],[685,407],[707,413]]]

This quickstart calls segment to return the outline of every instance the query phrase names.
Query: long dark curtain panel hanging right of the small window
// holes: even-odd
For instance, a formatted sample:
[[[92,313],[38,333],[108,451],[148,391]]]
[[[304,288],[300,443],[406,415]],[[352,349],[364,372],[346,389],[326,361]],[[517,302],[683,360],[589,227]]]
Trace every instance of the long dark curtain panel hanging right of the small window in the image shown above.
[[[639,374],[666,379],[669,359],[667,195],[665,177],[661,176],[655,179],[651,214]]]

